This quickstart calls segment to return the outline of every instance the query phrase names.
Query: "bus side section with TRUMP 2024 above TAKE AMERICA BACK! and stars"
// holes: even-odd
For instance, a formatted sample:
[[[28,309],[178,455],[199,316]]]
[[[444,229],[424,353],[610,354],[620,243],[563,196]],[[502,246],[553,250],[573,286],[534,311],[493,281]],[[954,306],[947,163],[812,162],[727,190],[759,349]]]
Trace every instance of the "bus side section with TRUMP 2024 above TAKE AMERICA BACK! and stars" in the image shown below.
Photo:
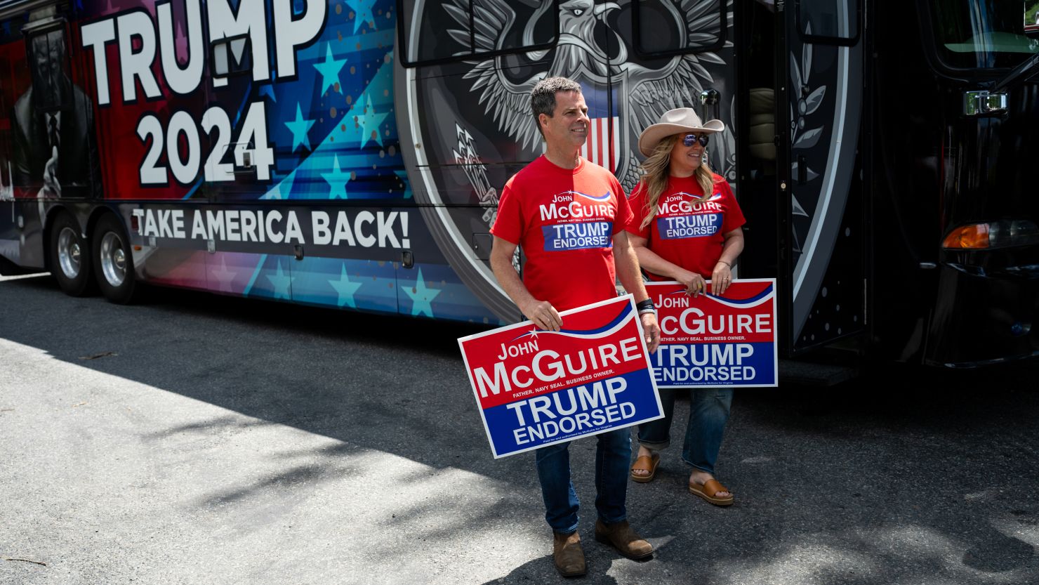
[[[395,3],[356,14],[323,0],[297,2],[292,15],[284,3],[222,6],[91,4],[74,25],[105,198],[139,248],[137,276],[495,321],[439,252],[404,172]],[[225,37],[244,39],[248,67],[218,78],[212,53]]]

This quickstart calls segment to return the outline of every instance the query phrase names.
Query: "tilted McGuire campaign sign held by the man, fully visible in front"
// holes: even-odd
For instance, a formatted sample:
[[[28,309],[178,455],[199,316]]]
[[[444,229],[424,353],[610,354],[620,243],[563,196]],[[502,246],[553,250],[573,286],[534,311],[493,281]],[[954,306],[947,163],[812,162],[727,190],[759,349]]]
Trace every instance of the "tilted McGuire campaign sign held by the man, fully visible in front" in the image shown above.
[[[632,295],[458,340],[495,458],[664,416]]]

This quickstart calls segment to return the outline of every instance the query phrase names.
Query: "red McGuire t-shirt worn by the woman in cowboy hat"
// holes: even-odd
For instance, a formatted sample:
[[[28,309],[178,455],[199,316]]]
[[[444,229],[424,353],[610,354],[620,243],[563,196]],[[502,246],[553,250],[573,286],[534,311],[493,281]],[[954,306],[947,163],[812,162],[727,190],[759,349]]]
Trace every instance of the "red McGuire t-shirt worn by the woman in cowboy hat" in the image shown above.
[[[645,184],[639,183],[629,202],[634,216],[627,229],[648,240],[646,247],[657,256],[711,278],[721,258],[725,234],[745,223],[728,183],[717,175],[714,190],[710,200],[695,203],[703,194],[695,177],[670,177],[657,201],[657,215],[641,228],[647,209]],[[648,271],[646,275],[651,281],[670,280]]]

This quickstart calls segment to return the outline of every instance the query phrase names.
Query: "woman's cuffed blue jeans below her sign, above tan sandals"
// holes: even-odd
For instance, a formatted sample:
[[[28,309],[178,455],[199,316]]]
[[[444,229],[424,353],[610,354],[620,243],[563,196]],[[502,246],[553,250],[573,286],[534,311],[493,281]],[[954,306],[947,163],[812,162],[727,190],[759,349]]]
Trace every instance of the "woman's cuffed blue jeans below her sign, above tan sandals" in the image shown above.
[[[639,425],[639,443],[646,449],[660,451],[671,444],[674,397],[678,392],[676,389],[661,390],[664,418]],[[682,450],[682,458],[687,463],[714,475],[721,436],[731,407],[731,388],[689,389],[689,423],[686,425],[686,445]]]

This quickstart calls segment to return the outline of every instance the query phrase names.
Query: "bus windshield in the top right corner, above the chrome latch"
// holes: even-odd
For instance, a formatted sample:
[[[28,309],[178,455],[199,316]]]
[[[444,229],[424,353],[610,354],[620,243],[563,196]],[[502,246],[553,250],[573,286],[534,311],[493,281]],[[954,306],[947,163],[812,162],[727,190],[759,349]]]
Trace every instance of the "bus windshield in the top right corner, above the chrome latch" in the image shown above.
[[[1033,23],[1039,12],[1035,6],[1025,6]],[[1024,34],[1016,2],[940,0],[932,3],[931,15],[938,56],[947,67],[1012,68],[1039,52],[1039,42]]]

